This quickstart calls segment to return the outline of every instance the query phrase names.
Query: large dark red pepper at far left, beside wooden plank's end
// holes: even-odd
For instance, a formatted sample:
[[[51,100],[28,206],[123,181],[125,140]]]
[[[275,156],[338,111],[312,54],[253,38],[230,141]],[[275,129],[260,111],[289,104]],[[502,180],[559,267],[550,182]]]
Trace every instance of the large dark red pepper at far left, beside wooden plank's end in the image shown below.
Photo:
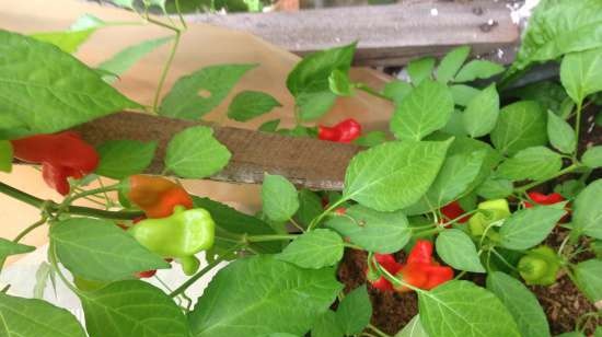
[[[80,179],[99,166],[96,150],[79,133],[65,131],[12,140],[14,156],[42,164],[42,176],[61,195],[69,194],[69,177]]]

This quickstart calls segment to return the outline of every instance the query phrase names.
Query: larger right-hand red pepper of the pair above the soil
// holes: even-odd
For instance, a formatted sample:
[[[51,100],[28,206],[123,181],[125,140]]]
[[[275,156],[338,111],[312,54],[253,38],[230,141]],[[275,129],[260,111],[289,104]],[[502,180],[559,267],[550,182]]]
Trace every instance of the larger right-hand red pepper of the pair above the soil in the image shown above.
[[[432,258],[432,243],[427,240],[418,240],[409,252],[406,264],[395,275],[400,280],[419,289],[430,290],[451,279],[453,269],[440,266]],[[405,286],[397,286],[398,292],[412,291]]]

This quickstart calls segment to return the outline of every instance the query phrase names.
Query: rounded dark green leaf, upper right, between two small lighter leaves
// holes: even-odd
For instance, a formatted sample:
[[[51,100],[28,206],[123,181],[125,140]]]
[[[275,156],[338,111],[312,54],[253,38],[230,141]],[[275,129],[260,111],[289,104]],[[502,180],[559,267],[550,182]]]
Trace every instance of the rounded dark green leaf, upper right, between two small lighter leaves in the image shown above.
[[[491,131],[491,142],[502,153],[547,143],[546,115],[536,102],[520,101],[505,106]]]

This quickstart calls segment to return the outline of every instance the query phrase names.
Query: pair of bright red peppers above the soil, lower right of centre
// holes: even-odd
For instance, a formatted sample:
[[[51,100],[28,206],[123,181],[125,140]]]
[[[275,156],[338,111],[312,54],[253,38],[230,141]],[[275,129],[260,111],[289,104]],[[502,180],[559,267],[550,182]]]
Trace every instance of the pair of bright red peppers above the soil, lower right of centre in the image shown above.
[[[432,243],[428,240],[416,241],[405,264],[397,263],[391,254],[374,254],[374,259],[389,274],[418,289],[430,290],[453,279],[453,269],[440,266],[432,257]],[[366,272],[368,281],[375,289],[397,292],[412,291],[408,287],[392,284],[373,265],[373,262],[369,262]]]

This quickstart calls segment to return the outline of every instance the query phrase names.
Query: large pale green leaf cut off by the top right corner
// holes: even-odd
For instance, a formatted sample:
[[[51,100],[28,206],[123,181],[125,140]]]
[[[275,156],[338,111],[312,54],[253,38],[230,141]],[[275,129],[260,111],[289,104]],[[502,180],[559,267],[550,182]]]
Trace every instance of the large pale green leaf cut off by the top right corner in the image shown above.
[[[545,0],[533,11],[513,68],[557,59],[566,53],[602,46],[602,3]]]

